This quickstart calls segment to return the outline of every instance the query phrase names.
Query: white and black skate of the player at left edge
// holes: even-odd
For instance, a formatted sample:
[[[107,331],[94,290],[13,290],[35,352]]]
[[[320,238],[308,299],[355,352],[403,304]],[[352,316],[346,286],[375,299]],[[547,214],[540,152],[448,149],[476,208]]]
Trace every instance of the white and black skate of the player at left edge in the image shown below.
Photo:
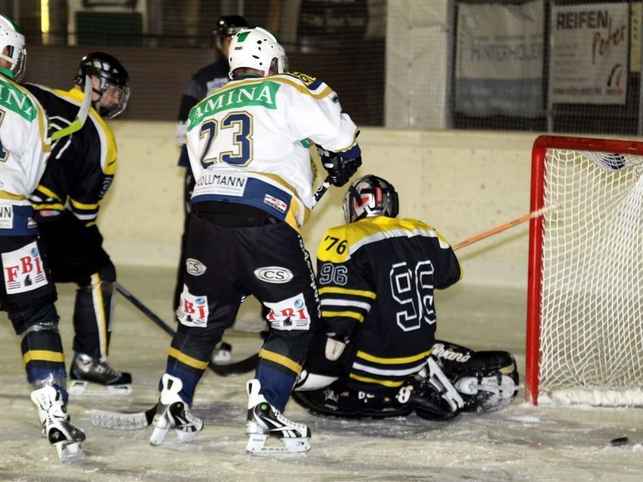
[[[56,447],[60,461],[70,462],[81,458],[83,451],[80,442],[85,440],[85,433],[70,422],[60,392],[51,385],[45,385],[31,392],[31,401],[38,407],[42,436]]]

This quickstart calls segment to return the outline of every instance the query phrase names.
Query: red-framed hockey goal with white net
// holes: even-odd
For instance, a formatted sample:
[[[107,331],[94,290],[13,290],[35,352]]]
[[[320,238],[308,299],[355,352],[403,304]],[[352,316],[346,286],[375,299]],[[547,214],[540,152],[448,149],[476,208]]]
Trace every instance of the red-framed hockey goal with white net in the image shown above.
[[[532,151],[526,397],[643,405],[643,142]]]

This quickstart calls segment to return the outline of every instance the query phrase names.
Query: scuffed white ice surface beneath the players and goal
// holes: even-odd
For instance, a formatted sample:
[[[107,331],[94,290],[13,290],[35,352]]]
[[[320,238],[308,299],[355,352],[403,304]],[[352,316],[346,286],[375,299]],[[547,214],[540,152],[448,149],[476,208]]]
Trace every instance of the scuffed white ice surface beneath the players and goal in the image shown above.
[[[169,269],[119,269],[120,282],[154,313],[172,323]],[[71,359],[74,290],[59,290],[58,312],[67,365]],[[526,294],[523,290],[456,285],[437,294],[438,337],[473,349],[505,349],[524,372]],[[259,331],[244,310],[240,329]],[[514,403],[484,416],[460,415],[454,422],[418,417],[341,420],[309,415],[294,403],[286,415],[308,424],[307,454],[272,458],[245,454],[248,376],[221,378],[207,372],[193,410],[204,430],[193,444],[151,447],[151,429],[110,431],[90,425],[91,408],[145,410],[158,397],[170,338],[118,295],[110,363],[133,375],[129,397],[75,397],[69,410],[86,431],[84,460],[63,465],[54,447],[40,438],[38,416],[29,400],[19,349],[6,315],[0,323],[0,479],[56,481],[206,480],[437,480],[437,481],[641,481],[643,411],[528,406],[523,393]],[[257,351],[259,337],[232,331],[225,340],[233,358]],[[587,347],[592,349],[592,347]],[[613,438],[630,443],[610,447]]]

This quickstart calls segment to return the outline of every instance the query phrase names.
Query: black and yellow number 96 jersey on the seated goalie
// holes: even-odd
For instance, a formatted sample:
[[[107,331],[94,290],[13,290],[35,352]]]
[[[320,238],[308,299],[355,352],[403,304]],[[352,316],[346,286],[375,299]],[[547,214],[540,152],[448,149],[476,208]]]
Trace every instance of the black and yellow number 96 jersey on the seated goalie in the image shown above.
[[[461,277],[450,245],[415,219],[367,217],[330,228],[317,258],[325,330],[357,346],[351,378],[400,385],[430,354],[434,289]]]

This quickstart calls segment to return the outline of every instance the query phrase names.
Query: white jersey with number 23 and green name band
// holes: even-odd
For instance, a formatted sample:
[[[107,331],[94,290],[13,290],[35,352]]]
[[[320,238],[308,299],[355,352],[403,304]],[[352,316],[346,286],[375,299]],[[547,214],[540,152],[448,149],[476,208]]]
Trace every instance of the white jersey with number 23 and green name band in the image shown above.
[[[190,110],[186,131],[193,204],[248,204],[296,230],[313,202],[309,140],[359,155],[357,126],[337,94],[297,72],[231,81]]]

